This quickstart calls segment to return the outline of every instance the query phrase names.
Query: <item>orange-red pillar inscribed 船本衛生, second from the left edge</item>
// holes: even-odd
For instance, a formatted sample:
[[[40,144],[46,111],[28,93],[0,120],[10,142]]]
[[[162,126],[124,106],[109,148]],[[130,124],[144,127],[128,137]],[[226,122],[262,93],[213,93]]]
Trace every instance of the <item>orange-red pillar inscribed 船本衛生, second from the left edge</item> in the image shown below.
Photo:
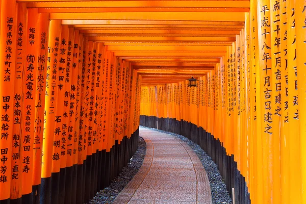
[[[21,143],[21,107],[23,107],[23,73],[25,66],[25,54],[26,54],[26,44],[23,43],[26,41],[27,37],[27,19],[28,19],[28,10],[27,4],[18,3],[18,16],[16,20],[17,24],[17,35],[16,41],[16,69],[15,69],[15,82],[14,82],[14,114],[11,118],[13,122],[13,143],[12,143],[12,177],[11,177],[11,200],[21,198],[21,155],[20,152],[20,143]],[[2,121],[9,122],[9,115],[2,114]],[[1,156],[1,155],[0,155]],[[1,168],[0,173],[5,174],[6,171],[10,169],[9,167]]]

